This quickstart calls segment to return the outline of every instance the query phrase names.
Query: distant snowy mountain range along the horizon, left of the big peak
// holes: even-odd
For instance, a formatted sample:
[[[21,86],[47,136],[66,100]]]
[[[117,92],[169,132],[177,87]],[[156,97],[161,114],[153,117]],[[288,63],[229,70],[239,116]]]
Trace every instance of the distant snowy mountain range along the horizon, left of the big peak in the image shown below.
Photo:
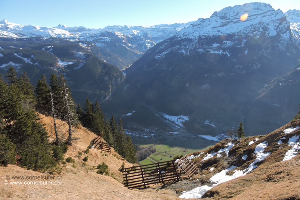
[[[103,48],[113,55],[119,57],[114,61],[105,56],[107,62],[123,69],[130,66],[135,60],[124,58],[140,58],[149,48],[168,37],[173,36],[179,30],[187,27],[188,23],[182,24],[161,24],[151,27],[142,26],[108,26],[99,29],[85,27],[68,27],[58,25],[57,27],[41,27],[33,25],[19,25],[3,20],[0,22],[0,37],[5,38],[63,38],[64,40],[86,41]],[[129,51],[128,53],[124,53]],[[104,53],[108,54],[108,53]]]

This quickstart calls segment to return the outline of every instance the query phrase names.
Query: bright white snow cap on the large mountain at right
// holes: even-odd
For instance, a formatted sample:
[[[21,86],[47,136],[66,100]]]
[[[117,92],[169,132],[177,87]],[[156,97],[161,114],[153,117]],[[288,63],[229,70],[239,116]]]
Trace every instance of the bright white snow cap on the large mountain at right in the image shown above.
[[[248,14],[246,20],[242,21],[240,17]],[[214,12],[209,18],[199,18],[191,26],[182,29],[178,38],[197,39],[206,35],[251,35],[254,36],[264,32],[263,27],[267,27],[269,37],[279,34],[285,34],[289,23],[282,22],[285,15],[281,10],[274,10],[267,3],[245,3],[233,7],[223,8],[219,12]],[[286,34],[283,37],[288,37]],[[285,38],[285,39],[287,39]]]

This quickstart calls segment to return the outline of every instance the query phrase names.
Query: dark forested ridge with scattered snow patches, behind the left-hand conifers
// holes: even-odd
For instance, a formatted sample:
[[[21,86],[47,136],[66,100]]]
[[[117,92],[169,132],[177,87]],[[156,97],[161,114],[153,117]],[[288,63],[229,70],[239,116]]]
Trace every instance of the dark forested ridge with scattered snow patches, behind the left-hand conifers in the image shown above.
[[[36,85],[42,74],[49,80],[52,73],[63,73],[75,102],[81,104],[87,97],[104,101],[123,82],[125,77],[117,67],[94,56],[99,53],[94,44],[46,41],[47,45],[38,41],[29,41],[30,44],[6,42],[17,47],[1,47],[3,43],[0,41],[0,74],[5,75],[9,68],[14,67],[19,76],[26,71],[32,84]]]

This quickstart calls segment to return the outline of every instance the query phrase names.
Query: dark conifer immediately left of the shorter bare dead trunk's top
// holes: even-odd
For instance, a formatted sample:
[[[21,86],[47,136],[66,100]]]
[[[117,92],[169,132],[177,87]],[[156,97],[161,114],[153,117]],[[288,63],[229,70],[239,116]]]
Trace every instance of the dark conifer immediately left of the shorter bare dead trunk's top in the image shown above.
[[[49,85],[47,84],[47,78],[43,74],[41,79],[37,81],[37,86],[35,87],[34,90],[37,98],[37,103],[42,106],[42,108],[45,108],[47,111],[50,110],[50,90],[49,90]]]

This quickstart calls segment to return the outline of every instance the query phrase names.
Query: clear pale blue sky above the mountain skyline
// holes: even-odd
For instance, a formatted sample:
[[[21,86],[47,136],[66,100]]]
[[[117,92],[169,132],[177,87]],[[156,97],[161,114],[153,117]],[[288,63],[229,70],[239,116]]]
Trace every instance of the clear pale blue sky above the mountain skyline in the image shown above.
[[[0,21],[23,25],[55,27],[84,26],[104,28],[112,25],[148,27],[157,24],[186,23],[210,17],[214,11],[252,1],[243,0],[2,0]],[[266,0],[283,12],[300,10],[300,0]]]

